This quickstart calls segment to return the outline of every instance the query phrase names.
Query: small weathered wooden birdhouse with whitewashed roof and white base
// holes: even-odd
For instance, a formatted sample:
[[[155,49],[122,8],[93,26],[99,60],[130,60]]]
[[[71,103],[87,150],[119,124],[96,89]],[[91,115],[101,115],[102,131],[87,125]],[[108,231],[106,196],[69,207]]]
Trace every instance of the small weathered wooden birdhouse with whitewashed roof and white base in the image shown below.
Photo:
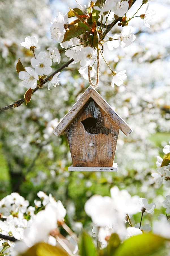
[[[67,135],[73,165],[69,171],[117,171],[113,164],[119,129],[132,132],[127,123],[89,86],[54,129]]]

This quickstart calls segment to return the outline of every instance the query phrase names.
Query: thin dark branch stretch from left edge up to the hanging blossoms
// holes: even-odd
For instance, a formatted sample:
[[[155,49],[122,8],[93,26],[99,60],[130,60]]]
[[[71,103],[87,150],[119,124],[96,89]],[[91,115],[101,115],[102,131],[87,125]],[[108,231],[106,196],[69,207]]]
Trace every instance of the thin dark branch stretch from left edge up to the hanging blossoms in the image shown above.
[[[60,72],[61,70],[63,70],[65,67],[68,67],[72,62],[74,61],[74,59],[70,59],[69,61],[67,61],[63,66],[61,66],[59,69],[57,69],[56,71],[54,71],[50,76],[54,76],[55,74],[57,74],[58,72]],[[41,81],[41,85],[44,85],[46,82],[49,81],[49,77],[43,79]],[[34,94],[37,90],[39,89],[39,87],[37,86],[34,90],[33,90],[33,93]],[[19,106],[21,106],[23,103],[24,103],[25,99],[24,97],[22,99],[19,99],[17,101],[15,101],[13,104],[10,104],[4,108],[1,108],[0,109],[0,112],[3,111],[3,110],[8,110],[9,108],[17,108]]]

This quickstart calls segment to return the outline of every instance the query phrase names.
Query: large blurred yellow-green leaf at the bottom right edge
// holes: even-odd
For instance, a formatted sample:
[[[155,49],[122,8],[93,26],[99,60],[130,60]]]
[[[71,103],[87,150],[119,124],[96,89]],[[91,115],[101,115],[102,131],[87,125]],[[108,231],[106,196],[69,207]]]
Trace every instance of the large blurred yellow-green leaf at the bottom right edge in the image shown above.
[[[124,241],[115,250],[114,254],[107,256],[149,256],[162,249],[165,239],[152,233],[144,233]]]

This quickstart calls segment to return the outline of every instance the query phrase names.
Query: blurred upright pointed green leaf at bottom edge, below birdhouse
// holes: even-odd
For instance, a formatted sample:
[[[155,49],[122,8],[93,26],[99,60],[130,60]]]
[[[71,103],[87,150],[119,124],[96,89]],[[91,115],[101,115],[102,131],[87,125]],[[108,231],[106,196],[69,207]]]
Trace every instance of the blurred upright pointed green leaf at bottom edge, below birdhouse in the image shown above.
[[[96,247],[92,241],[92,238],[86,232],[83,232],[79,242],[79,254],[81,256],[97,256]]]

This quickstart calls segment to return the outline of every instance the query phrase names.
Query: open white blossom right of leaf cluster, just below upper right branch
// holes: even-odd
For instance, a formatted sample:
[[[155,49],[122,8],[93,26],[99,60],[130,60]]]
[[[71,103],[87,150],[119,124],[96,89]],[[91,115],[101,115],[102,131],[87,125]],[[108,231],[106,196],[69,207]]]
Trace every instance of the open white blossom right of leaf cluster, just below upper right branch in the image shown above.
[[[121,47],[127,47],[135,40],[136,36],[132,33],[133,29],[132,26],[123,27],[119,36],[119,44]]]

